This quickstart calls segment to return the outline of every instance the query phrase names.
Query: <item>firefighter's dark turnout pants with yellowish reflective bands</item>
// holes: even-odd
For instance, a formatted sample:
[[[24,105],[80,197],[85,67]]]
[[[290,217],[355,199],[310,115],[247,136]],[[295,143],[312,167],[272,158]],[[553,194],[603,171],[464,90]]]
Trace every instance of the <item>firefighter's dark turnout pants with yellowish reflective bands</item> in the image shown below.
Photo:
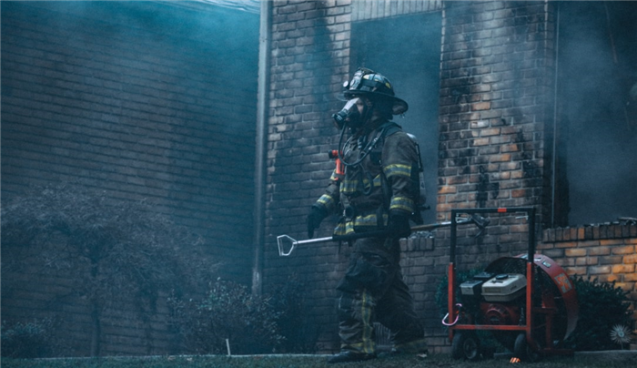
[[[394,349],[405,353],[427,349],[399,259],[396,239],[357,240],[337,287],[341,351],[375,353],[373,322],[389,328]]]

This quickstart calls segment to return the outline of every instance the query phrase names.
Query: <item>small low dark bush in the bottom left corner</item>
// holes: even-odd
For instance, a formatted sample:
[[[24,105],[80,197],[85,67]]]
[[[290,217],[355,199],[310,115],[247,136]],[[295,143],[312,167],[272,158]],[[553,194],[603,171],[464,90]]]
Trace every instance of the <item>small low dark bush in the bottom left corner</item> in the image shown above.
[[[51,354],[51,320],[0,324],[0,356],[42,358]]]

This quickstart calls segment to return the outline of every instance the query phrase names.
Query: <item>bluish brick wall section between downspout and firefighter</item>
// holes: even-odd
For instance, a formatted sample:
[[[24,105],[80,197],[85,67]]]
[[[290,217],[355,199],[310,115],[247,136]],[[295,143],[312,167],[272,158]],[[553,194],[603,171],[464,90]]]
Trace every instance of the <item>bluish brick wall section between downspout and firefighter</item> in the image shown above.
[[[349,77],[350,3],[275,0],[272,8],[264,285],[272,290],[298,275],[307,290],[308,334],[324,351],[338,349],[333,297],[347,255],[336,244],[319,244],[281,258],[276,237],[307,237],[309,207],[334,169],[328,151],[338,137],[330,115]],[[329,221],[315,236],[330,233]]]

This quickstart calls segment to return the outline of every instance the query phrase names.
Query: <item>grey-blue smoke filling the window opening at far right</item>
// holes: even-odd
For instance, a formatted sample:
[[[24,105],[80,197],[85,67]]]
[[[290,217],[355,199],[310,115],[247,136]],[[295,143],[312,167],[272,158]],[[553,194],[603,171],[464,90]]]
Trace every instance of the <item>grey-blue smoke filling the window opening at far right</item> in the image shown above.
[[[637,217],[637,3],[561,2],[558,141],[566,154],[570,225]]]

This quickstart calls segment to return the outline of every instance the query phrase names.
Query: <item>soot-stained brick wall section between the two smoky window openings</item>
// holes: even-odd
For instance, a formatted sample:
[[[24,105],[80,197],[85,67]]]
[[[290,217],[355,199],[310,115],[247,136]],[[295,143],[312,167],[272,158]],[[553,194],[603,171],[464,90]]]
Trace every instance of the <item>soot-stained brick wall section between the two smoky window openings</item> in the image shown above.
[[[544,1],[445,2],[440,63],[439,221],[463,208],[539,206],[544,201],[545,126],[551,124],[552,14]],[[541,223],[542,211],[537,222]],[[527,249],[516,215],[491,216],[478,238],[458,234],[458,268]],[[423,315],[432,343],[440,335],[433,295],[449,263],[449,231],[437,230],[420,271]],[[410,248],[408,242],[408,249]],[[411,257],[409,252],[406,258]],[[409,270],[416,272],[417,270]],[[413,279],[417,281],[419,279]],[[441,348],[444,349],[444,348]]]

